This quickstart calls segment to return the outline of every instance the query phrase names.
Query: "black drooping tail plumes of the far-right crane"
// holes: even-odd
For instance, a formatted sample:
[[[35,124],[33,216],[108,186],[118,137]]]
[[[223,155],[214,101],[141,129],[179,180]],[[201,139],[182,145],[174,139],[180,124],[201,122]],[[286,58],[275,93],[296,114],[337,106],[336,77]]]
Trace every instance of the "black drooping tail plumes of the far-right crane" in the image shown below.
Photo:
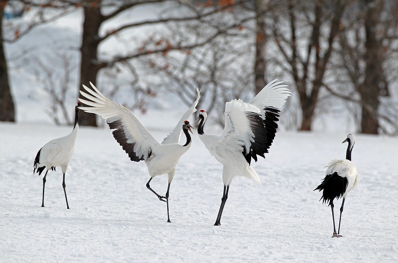
[[[318,185],[314,191],[319,190],[320,192],[323,190],[322,197],[319,199],[319,201],[323,198],[322,203],[329,202],[330,205],[335,198],[339,199],[344,195],[345,191],[347,190],[347,186],[347,177],[341,177],[337,172],[334,172],[332,174],[327,174],[325,178],[323,178],[322,183]]]

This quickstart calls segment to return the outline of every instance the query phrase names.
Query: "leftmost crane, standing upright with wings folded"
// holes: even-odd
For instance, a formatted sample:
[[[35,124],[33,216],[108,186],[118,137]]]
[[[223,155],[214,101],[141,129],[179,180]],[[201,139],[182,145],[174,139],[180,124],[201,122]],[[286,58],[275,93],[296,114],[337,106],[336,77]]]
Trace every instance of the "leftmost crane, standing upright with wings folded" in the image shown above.
[[[75,106],[75,126],[70,134],[50,140],[37,152],[36,158],[33,164],[33,173],[36,172],[41,174],[41,172],[46,169],[46,173],[43,177],[43,198],[41,206],[44,207],[44,186],[46,184],[46,176],[48,171],[54,170],[56,166],[61,166],[63,173],[62,187],[64,188],[66,207],[69,209],[68,198],[66,197],[65,190],[65,173],[68,168],[68,164],[72,159],[73,152],[75,150],[76,137],[79,131],[79,106],[82,106],[81,102],[78,102]]]

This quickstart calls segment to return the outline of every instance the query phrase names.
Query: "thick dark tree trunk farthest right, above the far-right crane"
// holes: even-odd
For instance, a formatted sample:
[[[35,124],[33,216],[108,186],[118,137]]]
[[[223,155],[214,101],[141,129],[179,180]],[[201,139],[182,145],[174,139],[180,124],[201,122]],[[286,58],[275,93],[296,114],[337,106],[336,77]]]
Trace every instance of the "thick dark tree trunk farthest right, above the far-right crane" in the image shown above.
[[[377,111],[380,104],[381,85],[384,83],[383,67],[380,48],[383,45],[378,41],[377,25],[380,23],[379,4],[375,0],[364,0],[366,9],[365,15],[365,32],[366,32],[366,54],[365,54],[365,78],[362,85],[358,87],[358,92],[362,98],[362,119],[361,132],[378,134],[379,120],[377,118]]]

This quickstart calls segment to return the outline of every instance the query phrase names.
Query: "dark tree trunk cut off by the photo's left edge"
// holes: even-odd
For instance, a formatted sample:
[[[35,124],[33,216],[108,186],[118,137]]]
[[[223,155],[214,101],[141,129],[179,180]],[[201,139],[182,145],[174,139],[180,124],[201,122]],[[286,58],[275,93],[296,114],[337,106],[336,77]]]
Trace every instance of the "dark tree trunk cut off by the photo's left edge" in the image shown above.
[[[15,122],[14,102],[8,82],[7,63],[2,41],[2,18],[6,0],[0,0],[0,121]]]

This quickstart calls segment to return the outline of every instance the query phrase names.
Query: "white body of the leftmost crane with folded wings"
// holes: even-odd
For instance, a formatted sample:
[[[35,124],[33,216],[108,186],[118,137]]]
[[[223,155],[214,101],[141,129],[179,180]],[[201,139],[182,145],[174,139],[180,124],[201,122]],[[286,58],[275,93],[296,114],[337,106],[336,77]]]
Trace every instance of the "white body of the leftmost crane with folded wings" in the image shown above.
[[[35,168],[46,166],[47,171],[51,167],[60,166],[62,172],[65,173],[68,164],[72,159],[75,151],[76,137],[79,131],[79,125],[76,124],[73,131],[60,138],[50,140],[40,149],[39,163]]]

